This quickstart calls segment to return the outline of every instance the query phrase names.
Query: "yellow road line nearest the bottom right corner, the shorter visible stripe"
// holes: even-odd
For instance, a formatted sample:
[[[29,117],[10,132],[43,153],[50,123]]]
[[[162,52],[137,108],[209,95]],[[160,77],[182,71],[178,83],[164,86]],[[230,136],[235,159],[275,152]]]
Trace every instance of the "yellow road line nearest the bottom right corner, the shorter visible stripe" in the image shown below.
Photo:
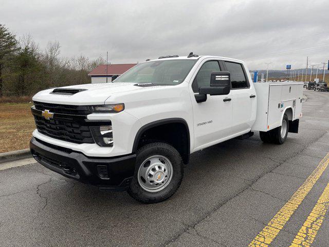
[[[300,228],[290,247],[309,247],[317,235],[329,207],[329,183],[324,188],[321,197]]]

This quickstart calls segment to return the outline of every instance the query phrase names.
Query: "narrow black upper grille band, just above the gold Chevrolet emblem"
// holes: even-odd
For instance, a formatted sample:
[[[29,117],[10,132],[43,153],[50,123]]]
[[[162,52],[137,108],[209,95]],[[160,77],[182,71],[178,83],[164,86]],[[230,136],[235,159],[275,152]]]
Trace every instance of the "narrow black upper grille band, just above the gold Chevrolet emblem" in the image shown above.
[[[52,113],[70,114],[70,115],[88,115],[92,111],[87,105],[69,105],[69,104],[52,104],[33,101],[36,110],[49,110]]]

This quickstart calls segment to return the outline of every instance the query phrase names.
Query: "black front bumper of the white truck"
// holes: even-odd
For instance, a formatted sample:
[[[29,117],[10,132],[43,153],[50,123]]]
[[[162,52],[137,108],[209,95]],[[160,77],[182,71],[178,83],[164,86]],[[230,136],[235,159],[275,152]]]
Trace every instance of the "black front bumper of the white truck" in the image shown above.
[[[135,172],[136,154],[88,157],[34,137],[30,141],[30,150],[35,160],[48,169],[100,189],[124,190]]]

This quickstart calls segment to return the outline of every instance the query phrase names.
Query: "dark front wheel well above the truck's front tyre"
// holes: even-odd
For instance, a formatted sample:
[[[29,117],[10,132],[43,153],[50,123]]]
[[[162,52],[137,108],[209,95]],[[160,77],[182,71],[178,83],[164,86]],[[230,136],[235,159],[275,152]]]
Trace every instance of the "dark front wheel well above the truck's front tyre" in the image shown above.
[[[133,152],[153,142],[170,144],[179,152],[184,164],[189,163],[190,133],[184,120],[161,120],[143,127],[136,135]]]

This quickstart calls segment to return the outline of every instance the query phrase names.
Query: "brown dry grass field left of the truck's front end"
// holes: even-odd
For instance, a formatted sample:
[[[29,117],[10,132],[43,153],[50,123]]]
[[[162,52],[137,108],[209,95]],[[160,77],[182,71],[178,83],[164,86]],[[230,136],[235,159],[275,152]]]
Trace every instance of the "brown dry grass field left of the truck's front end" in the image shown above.
[[[0,152],[29,147],[35,129],[32,103],[0,103]]]

